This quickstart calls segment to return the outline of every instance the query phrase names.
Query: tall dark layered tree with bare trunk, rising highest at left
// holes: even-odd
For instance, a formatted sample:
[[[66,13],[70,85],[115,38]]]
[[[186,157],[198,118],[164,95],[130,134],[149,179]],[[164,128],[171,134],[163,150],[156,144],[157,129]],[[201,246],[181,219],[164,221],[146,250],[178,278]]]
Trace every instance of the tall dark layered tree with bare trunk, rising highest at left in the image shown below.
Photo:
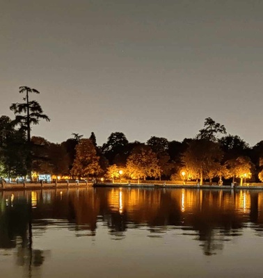
[[[26,93],[23,98],[24,103],[16,103],[10,106],[10,110],[15,114],[15,124],[19,124],[22,130],[27,133],[27,159],[26,168],[31,177],[31,124],[38,124],[40,120],[50,121],[49,117],[43,113],[43,110],[38,101],[29,101],[29,93],[39,94],[38,90],[26,86],[19,87],[19,93]]]

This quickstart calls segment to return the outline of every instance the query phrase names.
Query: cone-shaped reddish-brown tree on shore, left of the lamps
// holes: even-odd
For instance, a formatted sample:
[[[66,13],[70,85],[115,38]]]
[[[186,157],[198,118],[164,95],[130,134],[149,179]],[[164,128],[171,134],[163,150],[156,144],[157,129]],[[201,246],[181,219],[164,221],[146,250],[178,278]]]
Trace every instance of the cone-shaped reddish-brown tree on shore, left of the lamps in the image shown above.
[[[76,157],[70,173],[73,176],[88,178],[90,174],[95,175],[101,172],[99,167],[99,156],[90,139],[81,139],[76,146]]]

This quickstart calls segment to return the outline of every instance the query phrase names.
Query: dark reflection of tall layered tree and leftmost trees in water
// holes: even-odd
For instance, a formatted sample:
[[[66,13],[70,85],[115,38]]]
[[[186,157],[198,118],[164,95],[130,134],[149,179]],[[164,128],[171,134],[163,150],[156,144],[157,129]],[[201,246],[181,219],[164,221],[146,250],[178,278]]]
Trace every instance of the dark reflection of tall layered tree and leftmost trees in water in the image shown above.
[[[31,277],[32,267],[45,261],[42,250],[32,248],[31,204],[26,199],[1,200],[0,248],[17,248],[17,265],[27,268]]]

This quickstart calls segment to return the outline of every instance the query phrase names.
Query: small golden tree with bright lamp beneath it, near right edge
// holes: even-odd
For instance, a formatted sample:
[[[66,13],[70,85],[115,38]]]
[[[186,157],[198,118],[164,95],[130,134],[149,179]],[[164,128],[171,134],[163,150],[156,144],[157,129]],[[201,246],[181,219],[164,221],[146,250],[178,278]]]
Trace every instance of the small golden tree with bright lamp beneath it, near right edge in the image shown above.
[[[236,159],[230,159],[226,161],[225,165],[228,168],[228,177],[232,177],[233,183],[235,178],[239,178],[240,185],[242,185],[243,179],[249,179],[252,175],[253,163],[251,163],[248,156],[239,156]]]

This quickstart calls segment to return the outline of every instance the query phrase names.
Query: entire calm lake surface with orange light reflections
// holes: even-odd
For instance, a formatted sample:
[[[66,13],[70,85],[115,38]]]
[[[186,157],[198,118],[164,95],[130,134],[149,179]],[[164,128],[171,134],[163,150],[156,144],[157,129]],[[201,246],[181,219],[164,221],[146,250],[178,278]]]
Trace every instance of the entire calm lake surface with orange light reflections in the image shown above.
[[[0,277],[263,277],[263,193],[0,193]]]

